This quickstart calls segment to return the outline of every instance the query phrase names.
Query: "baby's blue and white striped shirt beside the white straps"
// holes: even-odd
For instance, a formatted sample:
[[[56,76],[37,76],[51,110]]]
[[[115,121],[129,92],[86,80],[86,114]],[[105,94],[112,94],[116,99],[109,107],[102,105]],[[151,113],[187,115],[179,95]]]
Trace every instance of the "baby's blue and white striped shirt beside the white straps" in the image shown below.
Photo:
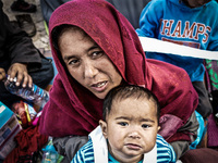
[[[172,147],[160,136],[157,135],[157,163],[174,163],[175,153]],[[108,153],[108,163],[119,163],[110,153]],[[71,163],[94,163],[93,141],[88,140],[75,154]],[[138,162],[138,163],[142,163]]]

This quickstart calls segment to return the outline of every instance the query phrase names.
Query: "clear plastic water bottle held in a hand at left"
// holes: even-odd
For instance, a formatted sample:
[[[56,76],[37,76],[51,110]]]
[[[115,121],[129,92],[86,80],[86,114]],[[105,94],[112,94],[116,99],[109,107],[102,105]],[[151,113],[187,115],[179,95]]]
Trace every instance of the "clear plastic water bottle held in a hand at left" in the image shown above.
[[[16,86],[16,77],[14,77],[13,82],[9,80],[9,76],[4,80],[5,88],[13,95],[16,95],[29,102],[33,102],[34,104],[39,106],[39,110],[44,108],[46,102],[49,100],[49,93],[48,91],[44,90],[43,88],[36,86],[33,84],[32,87],[22,87],[22,84],[20,86]]]

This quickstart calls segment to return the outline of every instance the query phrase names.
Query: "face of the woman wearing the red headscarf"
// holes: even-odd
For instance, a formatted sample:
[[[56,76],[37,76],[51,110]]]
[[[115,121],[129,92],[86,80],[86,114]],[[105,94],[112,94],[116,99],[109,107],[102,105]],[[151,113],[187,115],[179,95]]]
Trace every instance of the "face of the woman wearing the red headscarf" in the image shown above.
[[[116,66],[82,30],[66,29],[58,43],[69,73],[99,99],[121,84],[122,77]]]

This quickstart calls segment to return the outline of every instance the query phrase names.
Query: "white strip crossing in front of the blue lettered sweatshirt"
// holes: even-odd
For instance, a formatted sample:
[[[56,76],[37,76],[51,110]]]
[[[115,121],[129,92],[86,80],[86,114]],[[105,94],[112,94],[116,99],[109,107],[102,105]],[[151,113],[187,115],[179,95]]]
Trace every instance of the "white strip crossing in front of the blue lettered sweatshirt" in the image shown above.
[[[178,54],[183,57],[218,60],[218,51],[201,50],[149,37],[140,37],[140,40],[144,51],[147,52],[148,51],[161,52],[161,53]]]

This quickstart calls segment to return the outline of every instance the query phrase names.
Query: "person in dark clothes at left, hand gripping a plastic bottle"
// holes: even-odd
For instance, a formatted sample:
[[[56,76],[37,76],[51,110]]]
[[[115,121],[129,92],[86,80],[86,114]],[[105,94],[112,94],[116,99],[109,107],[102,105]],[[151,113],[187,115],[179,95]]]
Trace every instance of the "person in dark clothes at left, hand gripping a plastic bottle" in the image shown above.
[[[46,88],[53,78],[53,66],[26,33],[9,22],[2,7],[0,1],[0,101],[11,108],[21,98],[5,89],[2,80],[7,74],[11,80],[17,78],[17,86],[22,83],[23,87],[31,87],[34,83]]]

